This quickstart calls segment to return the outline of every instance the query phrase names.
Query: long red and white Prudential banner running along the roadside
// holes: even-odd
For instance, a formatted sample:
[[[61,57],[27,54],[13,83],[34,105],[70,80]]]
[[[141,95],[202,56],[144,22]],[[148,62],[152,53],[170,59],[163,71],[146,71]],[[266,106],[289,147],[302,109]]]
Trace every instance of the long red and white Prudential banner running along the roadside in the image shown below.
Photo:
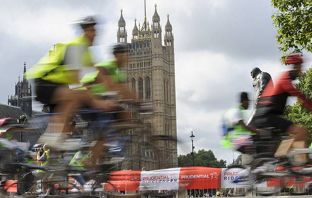
[[[149,190],[178,190],[178,189],[220,189],[220,188],[242,188],[243,183],[235,183],[240,177],[242,169],[209,168],[209,167],[182,167],[169,168],[153,171],[123,170],[112,172],[97,191],[149,191]],[[312,181],[312,177],[282,177],[269,178],[258,184],[258,187],[276,186],[298,186]],[[6,186],[12,185],[16,180],[9,180]],[[72,179],[77,186],[80,184]],[[84,187],[92,190],[94,180],[88,181]],[[246,184],[246,187],[250,183]],[[16,192],[16,185],[7,189]]]

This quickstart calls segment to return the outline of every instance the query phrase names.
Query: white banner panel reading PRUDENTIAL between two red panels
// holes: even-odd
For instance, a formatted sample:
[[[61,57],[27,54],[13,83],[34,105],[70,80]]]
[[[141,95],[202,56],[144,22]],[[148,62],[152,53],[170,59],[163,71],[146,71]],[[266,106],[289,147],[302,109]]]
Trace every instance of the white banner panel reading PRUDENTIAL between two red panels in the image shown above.
[[[169,168],[154,171],[142,171],[140,191],[178,190],[180,168]]]

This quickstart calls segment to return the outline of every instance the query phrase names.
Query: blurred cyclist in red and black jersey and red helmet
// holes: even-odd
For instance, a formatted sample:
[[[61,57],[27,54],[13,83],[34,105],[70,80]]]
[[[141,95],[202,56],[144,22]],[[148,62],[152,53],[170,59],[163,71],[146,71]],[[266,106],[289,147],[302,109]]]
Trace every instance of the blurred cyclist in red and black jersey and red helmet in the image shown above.
[[[290,54],[285,59],[285,64],[292,64],[293,69],[284,72],[275,86],[272,80],[266,85],[257,104],[255,119],[251,125],[255,127],[274,127],[283,132],[293,134],[294,141],[305,142],[307,130],[289,120],[280,117],[285,110],[286,100],[289,96],[295,96],[310,111],[312,111],[312,101],[307,99],[304,94],[297,90],[292,81],[297,79],[301,73],[302,54]],[[305,147],[299,146],[299,147]],[[299,148],[298,147],[298,148]]]

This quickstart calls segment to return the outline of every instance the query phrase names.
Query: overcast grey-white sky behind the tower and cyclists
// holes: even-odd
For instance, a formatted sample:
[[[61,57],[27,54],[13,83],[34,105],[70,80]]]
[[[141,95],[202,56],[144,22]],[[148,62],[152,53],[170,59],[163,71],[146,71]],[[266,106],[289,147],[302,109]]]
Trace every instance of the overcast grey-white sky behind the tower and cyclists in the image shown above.
[[[274,80],[285,70],[274,38],[274,8],[270,0],[147,0],[149,21],[155,3],[162,27],[167,13],[173,27],[177,134],[183,142],[178,152],[190,152],[193,131],[196,150],[211,149],[218,159],[230,162],[232,151],[219,146],[220,117],[237,104],[238,92],[248,91],[252,97],[253,67],[269,72]],[[130,41],[134,18],[143,22],[144,0],[2,0],[0,103],[14,94],[24,61],[30,67],[54,43],[80,33],[69,24],[77,16],[98,15],[102,23],[94,58],[107,60],[107,46],[116,42],[120,8]]]

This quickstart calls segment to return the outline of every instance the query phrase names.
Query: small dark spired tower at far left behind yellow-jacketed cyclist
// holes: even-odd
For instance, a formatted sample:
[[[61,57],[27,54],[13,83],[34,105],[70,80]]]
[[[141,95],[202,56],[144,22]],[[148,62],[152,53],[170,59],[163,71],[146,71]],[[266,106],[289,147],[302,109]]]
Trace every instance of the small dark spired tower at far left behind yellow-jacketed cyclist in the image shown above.
[[[24,62],[24,74],[26,72],[26,62]],[[31,99],[31,84],[23,75],[23,80],[20,81],[18,77],[18,82],[15,84],[15,94],[14,96],[8,96],[7,104],[12,106],[18,106],[22,108],[27,115],[32,116],[32,99]]]

